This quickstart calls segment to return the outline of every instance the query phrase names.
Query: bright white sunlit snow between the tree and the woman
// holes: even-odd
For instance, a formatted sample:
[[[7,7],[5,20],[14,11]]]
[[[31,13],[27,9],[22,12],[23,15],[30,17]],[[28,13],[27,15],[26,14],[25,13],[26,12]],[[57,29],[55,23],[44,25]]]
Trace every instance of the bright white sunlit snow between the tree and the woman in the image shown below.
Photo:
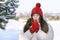
[[[25,20],[19,19],[18,21],[10,19],[6,25],[6,29],[14,29],[14,30],[23,30],[23,27],[26,22]]]

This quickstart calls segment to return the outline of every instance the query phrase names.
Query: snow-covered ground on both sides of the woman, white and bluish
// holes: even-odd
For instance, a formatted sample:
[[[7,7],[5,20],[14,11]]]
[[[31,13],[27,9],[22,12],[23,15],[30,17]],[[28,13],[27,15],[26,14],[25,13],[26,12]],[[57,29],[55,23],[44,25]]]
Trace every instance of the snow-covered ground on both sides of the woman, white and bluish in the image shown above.
[[[54,40],[60,40],[60,20],[47,20],[47,22],[54,30]],[[18,21],[10,19],[6,25],[6,30],[0,30],[0,40],[18,40],[19,33],[23,30],[25,23],[26,20],[24,19],[19,19]]]

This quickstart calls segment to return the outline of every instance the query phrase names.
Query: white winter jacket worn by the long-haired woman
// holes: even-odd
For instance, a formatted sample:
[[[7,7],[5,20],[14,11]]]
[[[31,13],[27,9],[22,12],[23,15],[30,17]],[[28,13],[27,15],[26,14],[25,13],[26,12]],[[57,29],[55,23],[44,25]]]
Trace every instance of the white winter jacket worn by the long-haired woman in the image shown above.
[[[30,31],[26,31],[25,33],[20,33],[19,40],[53,40],[54,32],[50,25],[48,33],[39,30],[38,33],[32,35]]]

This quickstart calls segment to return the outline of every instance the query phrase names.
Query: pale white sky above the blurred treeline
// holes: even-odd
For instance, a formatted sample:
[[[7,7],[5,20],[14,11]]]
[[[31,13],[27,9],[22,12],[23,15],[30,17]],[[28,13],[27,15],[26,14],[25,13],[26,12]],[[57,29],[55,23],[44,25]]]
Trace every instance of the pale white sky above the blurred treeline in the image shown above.
[[[19,0],[19,7],[16,12],[31,12],[38,2],[41,3],[43,13],[60,13],[60,0]]]

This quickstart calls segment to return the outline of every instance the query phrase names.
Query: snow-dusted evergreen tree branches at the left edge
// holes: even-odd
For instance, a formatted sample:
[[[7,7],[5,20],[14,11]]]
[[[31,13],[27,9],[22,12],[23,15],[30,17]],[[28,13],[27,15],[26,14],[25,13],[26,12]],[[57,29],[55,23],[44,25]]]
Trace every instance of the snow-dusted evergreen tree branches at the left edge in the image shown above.
[[[5,29],[2,23],[7,23],[7,19],[15,17],[15,10],[18,7],[19,0],[0,0],[0,28]]]

